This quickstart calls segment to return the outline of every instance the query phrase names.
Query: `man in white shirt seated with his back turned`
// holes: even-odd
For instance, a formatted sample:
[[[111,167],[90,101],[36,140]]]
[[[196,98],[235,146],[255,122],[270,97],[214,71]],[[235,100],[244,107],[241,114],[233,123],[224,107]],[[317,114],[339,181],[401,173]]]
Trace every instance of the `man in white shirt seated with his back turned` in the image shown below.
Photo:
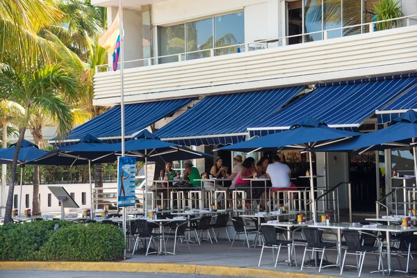
[[[266,175],[271,179],[272,188],[284,190],[291,186],[291,169],[288,165],[281,163],[279,156],[272,157],[272,164],[266,168]]]

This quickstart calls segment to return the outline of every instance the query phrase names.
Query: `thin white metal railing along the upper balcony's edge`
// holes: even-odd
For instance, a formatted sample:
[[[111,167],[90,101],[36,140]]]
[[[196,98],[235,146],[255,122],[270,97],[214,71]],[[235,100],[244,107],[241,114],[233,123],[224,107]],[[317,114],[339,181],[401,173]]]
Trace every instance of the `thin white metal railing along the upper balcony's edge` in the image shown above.
[[[394,19],[381,20],[381,21],[378,21],[378,22],[366,22],[366,23],[363,23],[363,24],[343,26],[343,27],[332,28],[332,29],[327,29],[327,30],[322,30],[322,31],[316,31],[316,32],[311,32],[311,33],[302,33],[302,34],[299,34],[299,35],[286,35],[286,36],[279,37],[279,38],[273,38],[273,39],[267,39],[267,40],[258,40],[256,42],[245,42],[245,43],[242,43],[242,44],[233,44],[233,45],[224,46],[224,47],[213,47],[213,48],[210,48],[210,49],[199,49],[199,50],[196,50],[196,51],[187,51],[187,52],[183,52],[183,53],[180,53],[180,54],[170,54],[170,55],[155,56],[155,57],[150,57],[150,58],[129,60],[129,61],[124,61],[124,67],[125,68],[129,67],[129,64],[131,64],[131,63],[136,63],[137,64],[136,66],[133,66],[133,67],[158,65],[158,64],[161,64],[160,61],[162,59],[167,59],[167,58],[173,59],[172,61],[167,62],[167,63],[174,63],[174,62],[181,62],[183,60],[195,60],[195,59],[198,59],[198,58],[209,58],[209,57],[222,56],[222,55],[227,55],[227,54],[237,54],[238,49],[240,49],[240,51],[242,51],[242,52],[249,52],[249,51],[256,51],[256,50],[261,50],[261,49],[268,49],[270,47],[285,47],[286,45],[288,45],[288,40],[291,39],[291,38],[300,38],[301,37],[301,43],[304,44],[306,42],[309,42],[309,41],[304,40],[304,38],[308,37],[309,35],[316,35],[316,34],[321,34],[321,40],[329,40],[329,39],[331,39],[331,38],[329,38],[329,33],[335,32],[335,31],[340,31],[341,36],[342,36],[342,32],[344,30],[352,29],[352,28],[360,28],[361,29],[360,33],[366,33],[366,29],[368,29],[368,33],[373,33],[374,32],[374,26],[377,26],[377,24],[380,24],[382,22],[395,22],[395,21],[398,21],[398,20],[400,20],[402,22],[401,25],[404,25],[404,22],[405,22],[405,26],[417,25],[417,15],[409,15],[409,16],[398,17],[398,18],[394,18]],[[403,27],[403,26],[395,26],[395,28],[398,28],[398,27]],[[340,38],[340,37],[336,37],[336,38]],[[220,55],[217,54],[218,52],[220,52]],[[226,53],[224,53],[224,52],[226,52]],[[202,54],[204,54],[204,55],[202,56]],[[197,55],[197,56],[195,56],[195,55]],[[162,63],[162,64],[164,64],[164,63]],[[111,63],[96,66],[96,72],[106,72],[106,71],[109,71],[109,70],[113,70],[113,64],[111,64]]]

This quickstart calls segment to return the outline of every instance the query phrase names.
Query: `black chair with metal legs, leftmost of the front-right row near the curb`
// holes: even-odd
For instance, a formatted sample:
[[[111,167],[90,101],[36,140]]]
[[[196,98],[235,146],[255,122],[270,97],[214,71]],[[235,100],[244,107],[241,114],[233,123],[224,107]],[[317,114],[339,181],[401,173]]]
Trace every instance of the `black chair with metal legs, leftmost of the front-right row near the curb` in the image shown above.
[[[264,248],[271,248],[272,249],[272,258],[275,259],[274,250],[277,249],[277,259],[275,259],[275,265],[274,268],[277,268],[278,258],[279,258],[279,252],[281,251],[281,246],[285,245],[288,248],[291,248],[291,252],[294,251],[294,245],[293,240],[278,240],[277,234],[282,234],[286,229],[281,227],[275,227],[272,225],[261,225],[261,232],[263,235],[263,245],[261,250],[261,256],[259,257],[259,263],[258,267],[261,265],[262,255],[263,255],[263,249]],[[295,255],[295,265],[297,265],[297,255]]]

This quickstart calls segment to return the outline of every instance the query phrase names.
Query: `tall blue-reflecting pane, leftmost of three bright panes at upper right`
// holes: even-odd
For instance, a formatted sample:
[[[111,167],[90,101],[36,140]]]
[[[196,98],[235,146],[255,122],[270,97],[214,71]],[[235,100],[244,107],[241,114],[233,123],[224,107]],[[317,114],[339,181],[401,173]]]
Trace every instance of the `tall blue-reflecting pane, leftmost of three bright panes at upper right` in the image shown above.
[[[322,0],[304,0],[304,33],[322,31]],[[304,35],[304,42],[321,40],[322,33]]]

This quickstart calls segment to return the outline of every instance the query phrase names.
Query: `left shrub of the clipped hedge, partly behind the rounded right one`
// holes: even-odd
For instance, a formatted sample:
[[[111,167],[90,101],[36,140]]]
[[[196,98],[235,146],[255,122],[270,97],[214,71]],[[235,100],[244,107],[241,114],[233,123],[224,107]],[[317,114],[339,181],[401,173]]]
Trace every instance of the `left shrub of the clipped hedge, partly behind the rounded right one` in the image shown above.
[[[40,247],[54,233],[55,224],[62,229],[74,225],[62,220],[35,221],[22,224],[6,224],[0,229],[1,261],[31,261]]]

